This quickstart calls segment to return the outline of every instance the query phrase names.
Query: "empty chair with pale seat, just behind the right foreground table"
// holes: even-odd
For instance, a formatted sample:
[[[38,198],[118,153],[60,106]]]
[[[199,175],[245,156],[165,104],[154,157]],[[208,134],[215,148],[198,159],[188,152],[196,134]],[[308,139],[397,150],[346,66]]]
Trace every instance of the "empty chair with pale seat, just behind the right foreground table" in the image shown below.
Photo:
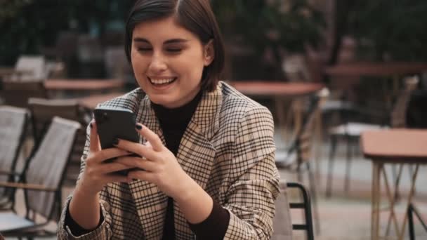
[[[360,135],[364,131],[379,130],[381,128],[405,128],[406,126],[406,112],[411,97],[412,91],[418,84],[418,78],[408,77],[405,79],[405,89],[400,91],[398,98],[395,100],[393,109],[388,113],[388,119],[384,121],[386,124],[369,124],[362,122],[348,122],[335,126],[329,130],[329,137],[331,139],[331,148],[329,150],[329,170],[327,179],[327,196],[331,196],[332,189],[332,172],[334,170],[334,159],[336,154],[336,144],[338,138],[345,138],[347,142],[347,156],[346,156],[346,180],[344,188],[348,191],[350,188],[350,161],[351,161],[351,144],[352,142],[358,142]]]

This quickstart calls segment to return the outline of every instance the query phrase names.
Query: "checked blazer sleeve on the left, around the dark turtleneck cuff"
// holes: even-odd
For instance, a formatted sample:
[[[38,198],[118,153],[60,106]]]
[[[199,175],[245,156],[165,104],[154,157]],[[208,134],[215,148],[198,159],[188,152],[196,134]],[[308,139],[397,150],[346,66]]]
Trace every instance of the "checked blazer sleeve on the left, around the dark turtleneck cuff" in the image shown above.
[[[89,126],[86,128],[86,144],[84,145],[83,155],[81,156],[81,166],[80,166],[80,174],[79,178],[77,178],[77,184],[81,178],[81,174],[84,171],[84,167],[86,166],[86,158],[88,156],[89,152],[89,138],[90,128]],[[72,232],[70,231],[70,228],[65,225],[65,215],[67,214],[68,205],[70,204],[70,201],[72,199],[72,195],[70,195],[67,198],[67,201],[65,202],[65,207],[63,208],[63,212],[61,213],[60,220],[58,222],[58,231],[57,236],[58,239],[110,239],[112,232],[111,232],[111,222],[112,218],[110,213],[108,212],[110,210],[110,205],[107,203],[107,201],[103,200],[106,196],[107,191],[105,190],[105,187],[103,191],[100,193],[100,207],[101,211],[104,217],[104,221],[101,223],[100,226],[98,226],[96,229],[94,229],[92,232],[88,232],[87,234],[81,235],[81,236],[74,236]]]

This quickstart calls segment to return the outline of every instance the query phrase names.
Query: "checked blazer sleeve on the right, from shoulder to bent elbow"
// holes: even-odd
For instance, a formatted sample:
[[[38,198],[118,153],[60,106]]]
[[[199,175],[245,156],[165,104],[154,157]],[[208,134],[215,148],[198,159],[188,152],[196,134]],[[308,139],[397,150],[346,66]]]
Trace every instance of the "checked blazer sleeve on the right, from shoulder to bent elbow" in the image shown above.
[[[270,111],[249,109],[239,121],[230,186],[225,194],[230,222],[224,239],[270,239],[280,176],[275,166]]]

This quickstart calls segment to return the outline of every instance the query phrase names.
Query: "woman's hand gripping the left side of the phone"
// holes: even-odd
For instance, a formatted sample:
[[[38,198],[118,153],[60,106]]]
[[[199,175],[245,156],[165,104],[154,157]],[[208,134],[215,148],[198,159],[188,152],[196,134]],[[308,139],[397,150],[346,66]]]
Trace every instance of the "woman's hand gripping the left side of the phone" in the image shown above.
[[[107,183],[128,182],[126,176],[114,172],[128,169],[130,168],[129,166],[117,161],[106,163],[105,160],[126,156],[131,153],[117,147],[101,149],[95,121],[91,121],[90,140],[86,166],[76,189],[85,195],[90,194],[93,196],[98,194]]]

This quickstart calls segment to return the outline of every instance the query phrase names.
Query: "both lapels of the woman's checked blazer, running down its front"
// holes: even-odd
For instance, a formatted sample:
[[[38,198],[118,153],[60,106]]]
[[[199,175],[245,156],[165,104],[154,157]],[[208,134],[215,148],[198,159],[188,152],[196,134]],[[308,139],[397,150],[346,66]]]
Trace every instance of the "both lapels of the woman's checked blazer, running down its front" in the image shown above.
[[[211,93],[203,93],[195,114],[193,114],[181,139],[177,154],[177,160],[183,171],[203,189],[205,189],[209,180],[213,158],[216,154],[211,138],[219,129],[219,113],[223,102],[222,84],[220,82],[216,90]],[[159,120],[148,96],[145,96],[142,100],[140,98],[135,100],[140,102],[139,107],[133,109],[133,112],[136,112],[136,121],[157,133],[163,144],[166,145]],[[141,141],[145,140],[141,139]],[[158,224],[164,222],[167,196],[150,182],[135,180],[129,186],[143,225],[145,237],[147,239],[160,238],[162,236],[162,228],[159,228]],[[141,193],[141,189],[145,194]],[[176,231],[191,236],[190,229],[183,227],[183,214],[176,204],[174,214]]]

